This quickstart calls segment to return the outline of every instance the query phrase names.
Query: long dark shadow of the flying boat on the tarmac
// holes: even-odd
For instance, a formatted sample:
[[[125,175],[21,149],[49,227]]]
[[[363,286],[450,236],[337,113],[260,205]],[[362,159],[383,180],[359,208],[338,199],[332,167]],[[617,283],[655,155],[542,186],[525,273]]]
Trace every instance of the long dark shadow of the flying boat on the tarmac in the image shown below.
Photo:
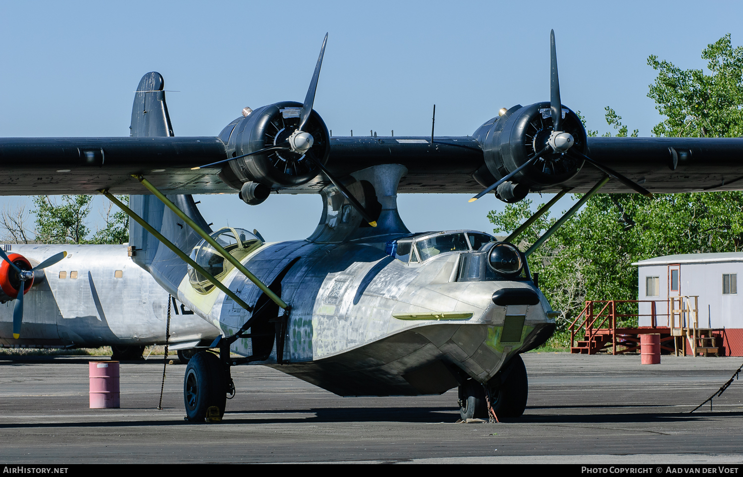
[[[233,414],[314,414],[313,417],[287,417],[279,416],[273,418],[237,418]],[[655,413],[617,413],[617,414],[526,414],[520,418],[502,418],[503,423],[508,424],[653,424],[678,421],[707,421],[710,418],[740,418],[743,412],[655,412]],[[400,407],[400,408],[319,408],[319,409],[285,409],[270,411],[230,411],[225,413],[221,425],[230,424],[314,424],[314,423],[372,423],[372,422],[398,422],[407,424],[453,424],[459,415],[451,408],[440,407]],[[60,423],[7,423],[0,424],[0,429],[19,429],[36,427],[143,427],[143,426],[179,426],[192,425],[187,421],[91,421],[91,422],[60,422]]]

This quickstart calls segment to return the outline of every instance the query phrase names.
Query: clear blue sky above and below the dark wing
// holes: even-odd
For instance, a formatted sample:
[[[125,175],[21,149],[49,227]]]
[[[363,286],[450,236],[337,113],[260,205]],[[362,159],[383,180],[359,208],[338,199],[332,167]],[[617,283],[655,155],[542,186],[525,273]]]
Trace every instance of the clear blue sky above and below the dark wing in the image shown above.
[[[609,105],[650,135],[661,117],[647,56],[702,68],[708,43],[733,33],[741,44],[742,18],[743,4],[714,1],[2,1],[0,135],[127,136],[132,92],[151,70],[180,91],[167,96],[175,134],[215,135],[244,106],[301,101],[325,32],[315,109],[334,134],[429,134],[434,103],[437,134],[472,134],[499,108],[549,98],[551,28],[562,101],[589,128],[607,130]],[[307,237],[320,214],[317,196],[199,199],[215,226],[268,240]],[[492,196],[399,203],[412,230],[490,230],[485,214],[502,208]]]

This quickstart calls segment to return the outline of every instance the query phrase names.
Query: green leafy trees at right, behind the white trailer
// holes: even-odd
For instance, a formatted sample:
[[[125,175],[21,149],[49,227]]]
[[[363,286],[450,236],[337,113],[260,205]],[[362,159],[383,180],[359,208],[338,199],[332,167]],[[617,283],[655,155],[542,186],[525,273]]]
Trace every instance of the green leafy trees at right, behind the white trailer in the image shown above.
[[[657,56],[649,57],[658,77],[648,96],[666,116],[653,128],[654,134],[743,134],[743,47],[733,48],[726,35],[708,45],[702,58],[708,60],[710,74],[681,70]],[[616,136],[627,136],[629,128],[621,119],[606,108],[606,122]],[[597,136],[598,131],[588,135]],[[574,200],[579,197],[573,195]],[[488,218],[497,234],[513,231],[531,213],[531,201],[524,200],[506,205],[502,212],[491,211]],[[522,249],[555,220],[549,214],[537,220],[519,236]],[[529,266],[532,273],[539,273],[539,286],[553,308],[562,313],[559,329],[565,329],[585,300],[637,300],[637,267],[632,263],[638,260],[741,250],[743,192],[656,194],[653,199],[640,194],[597,194],[529,257]],[[627,306],[623,312],[635,310]]]

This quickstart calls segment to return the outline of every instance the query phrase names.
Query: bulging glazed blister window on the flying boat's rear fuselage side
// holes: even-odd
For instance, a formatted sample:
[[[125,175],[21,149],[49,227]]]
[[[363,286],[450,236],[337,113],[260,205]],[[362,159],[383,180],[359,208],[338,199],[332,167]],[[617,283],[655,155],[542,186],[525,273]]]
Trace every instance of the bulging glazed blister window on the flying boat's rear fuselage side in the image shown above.
[[[263,241],[242,228],[221,228],[211,237],[229,254],[242,260],[251,251],[263,245]],[[229,272],[233,265],[222,257],[206,240],[201,240],[191,251],[191,259],[204,268],[212,277],[220,277]],[[213,288],[212,283],[201,273],[188,267],[189,282],[201,293],[207,293]]]

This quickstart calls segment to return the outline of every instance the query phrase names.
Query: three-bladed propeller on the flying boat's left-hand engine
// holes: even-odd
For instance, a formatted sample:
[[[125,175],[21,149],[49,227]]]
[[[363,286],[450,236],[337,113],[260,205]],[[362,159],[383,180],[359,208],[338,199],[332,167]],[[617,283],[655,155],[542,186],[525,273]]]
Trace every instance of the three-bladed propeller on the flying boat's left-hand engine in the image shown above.
[[[320,162],[317,157],[314,157],[314,155],[311,153],[310,148],[312,147],[314,143],[314,138],[312,137],[312,134],[309,134],[308,132],[302,131],[302,128],[307,125],[308,120],[310,119],[310,114],[312,113],[312,107],[315,102],[315,93],[317,92],[317,81],[319,80],[320,76],[320,68],[322,68],[322,57],[325,56],[325,45],[328,44],[328,33],[325,33],[325,39],[322,40],[322,47],[320,48],[320,54],[317,57],[317,65],[315,65],[314,73],[312,73],[312,79],[310,81],[310,87],[307,90],[307,96],[305,96],[305,102],[302,104],[302,111],[299,113],[299,125],[297,126],[296,130],[288,136],[284,142],[277,145],[272,145],[267,148],[259,149],[258,151],[253,151],[248,154],[242,154],[241,156],[236,157],[230,157],[228,159],[224,159],[217,162],[212,162],[211,164],[205,164],[200,165],[195,168],[191,168],[192,171],[195,171],[197,169],[210,167],[212,165],[220,165],[224,164],[225,162],[230,162],[235,159],[240,159],[241,157],[248,157],[253,156],[256,154],[263,154],[265,152],[269,151],[276,151],[279,149],[283,149],[285,151],[292,151],[293,153],[300,154],[304,157],[307,157],[311,162],[313,162],[315,165],[318,166],[318,168],[330,179],[331,182],[333,182],[333,185],[335,185],[341,194],[343,194],[343,197],[348,200],[349,203],[361,214],[361,217],[366,220],[367,223],[369,223],[370,226],[376,227],[377,222],[371,217],[371,214],[366,211],[365,208],[363,208],[363,205],[359,203],[359,201],[354,197],[351,192],[348,191],[347,188],[340,182],[340,180],[337,180],[336,177],[331,174],[330,171],[328,171],[328,168],[325,168],[325,165],[322,165],[322,162]]]

